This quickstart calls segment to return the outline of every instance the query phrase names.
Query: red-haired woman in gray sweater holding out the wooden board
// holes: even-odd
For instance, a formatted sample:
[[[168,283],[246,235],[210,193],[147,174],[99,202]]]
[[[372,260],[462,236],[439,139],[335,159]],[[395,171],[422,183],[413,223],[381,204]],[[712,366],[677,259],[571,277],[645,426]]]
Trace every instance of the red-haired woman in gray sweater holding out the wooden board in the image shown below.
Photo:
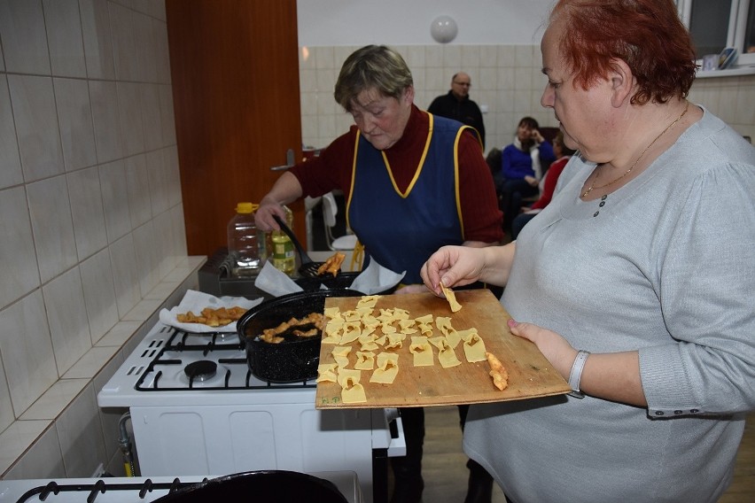
[[[572,392],[471,406],[464,452],[510,502],[717,501],[755,410],[755,149],[687,100],[672,0],[561,0],[541,52],[579,152],[517,241],[444,246],[422,276],[505,285]]]

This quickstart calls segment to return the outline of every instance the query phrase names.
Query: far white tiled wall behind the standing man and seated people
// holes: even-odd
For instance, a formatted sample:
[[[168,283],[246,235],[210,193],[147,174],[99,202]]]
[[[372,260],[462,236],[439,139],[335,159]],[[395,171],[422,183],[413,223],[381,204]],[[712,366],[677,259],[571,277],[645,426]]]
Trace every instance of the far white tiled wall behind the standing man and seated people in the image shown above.
[[[426,108],[450,89],[456,72],[470,74],[470,97],[486,105],[486,151],[514,138],[519,119],[534,117],[541,126],[557,126],[553,112],[541,107],[546,84],[539,45],[393,46],[414,76],[415,103]],[[327,146],[353,124],[333,99],[340,66],[357,46],[307,47],[300,50],[302,141]],[[304,54],[307,53],[307,58]],[[755,137],[755,76],[698,79],[690,99],[703,104],[742,135]]]

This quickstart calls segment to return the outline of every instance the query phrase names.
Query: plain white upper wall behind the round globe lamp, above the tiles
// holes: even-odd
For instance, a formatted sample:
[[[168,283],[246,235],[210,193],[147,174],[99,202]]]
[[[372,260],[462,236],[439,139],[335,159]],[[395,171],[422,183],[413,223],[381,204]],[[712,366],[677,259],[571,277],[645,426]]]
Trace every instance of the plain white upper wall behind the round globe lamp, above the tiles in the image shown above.
[[[300,46],[435,44],[432,20],[455,19],[454,44],[540,43],[554,0],[299,0]]]

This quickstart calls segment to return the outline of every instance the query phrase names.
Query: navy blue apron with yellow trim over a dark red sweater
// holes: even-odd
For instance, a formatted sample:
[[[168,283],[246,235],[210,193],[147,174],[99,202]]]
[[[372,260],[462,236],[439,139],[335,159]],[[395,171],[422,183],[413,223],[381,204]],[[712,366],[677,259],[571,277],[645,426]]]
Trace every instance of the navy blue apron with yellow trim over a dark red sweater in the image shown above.
[[[420,267],[445,244],[464,241],[457,148],[464,129],[430,115],[430,133],[406,192],[393,180],[385,153],[357,133],[346,218],[365,254],[404,284],[421,283]]]

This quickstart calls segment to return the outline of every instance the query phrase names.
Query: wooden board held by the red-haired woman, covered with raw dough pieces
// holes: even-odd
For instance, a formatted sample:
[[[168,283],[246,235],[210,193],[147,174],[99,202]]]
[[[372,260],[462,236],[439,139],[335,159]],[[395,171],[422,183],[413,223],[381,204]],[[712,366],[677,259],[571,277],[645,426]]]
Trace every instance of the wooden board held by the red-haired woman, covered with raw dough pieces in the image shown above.
[[[432,367],[414,367],[414,356],[409,352],[408,335],[403,347],[390,350],[399,353],[399,373],[392,384],[370,383],[372,371],[362,370],[360,383],[364,386],[367,401],[356,404],[344,404],[340,399],[341,387],[338,383],[318,383],[315,407],[327,408],[375,408],[403,406],[448,406],[496,402],[504,400],[530,399],[549,395],[564,394],[571,391],[569,384],[554,370],[537,347],[526,339],[510,333],[507,321],[510,316],[490,290],[455,291],[456,300],[463,306],[452,313],[445,298],[432,293],[403,295],[384,295],[377,300],[374,314],[379,309],[400,307],[409,311],[410,318],[425,314],[433,316],[433,333],[431,337],[441,336],[435,328],[434,318],[445,316],[451,318],[456,330],[478,329],[479,336],[485,342],[486,351],[493,352],[509,372],[509,387],[499,391],[493,385],[488,372],[487,361],[469,363],[464,357],[463,342],[456,346],[456,358],[461,365],[442,368],[438,361],[438,349],[434,346]],[[326,298],[325,307],[338,306],[340,311],[352,310],[359,297]],[[380,334],[377,329],[378,335]],[[416,333],[414,336],[422,334]],[[349,354],[349,365],[354,368],[355,352],[360,344],[354,342]],[[321,344],[320,362],[333,362],[331,352],[335,345]],[[377,353],[382,348],[376,350]]]

